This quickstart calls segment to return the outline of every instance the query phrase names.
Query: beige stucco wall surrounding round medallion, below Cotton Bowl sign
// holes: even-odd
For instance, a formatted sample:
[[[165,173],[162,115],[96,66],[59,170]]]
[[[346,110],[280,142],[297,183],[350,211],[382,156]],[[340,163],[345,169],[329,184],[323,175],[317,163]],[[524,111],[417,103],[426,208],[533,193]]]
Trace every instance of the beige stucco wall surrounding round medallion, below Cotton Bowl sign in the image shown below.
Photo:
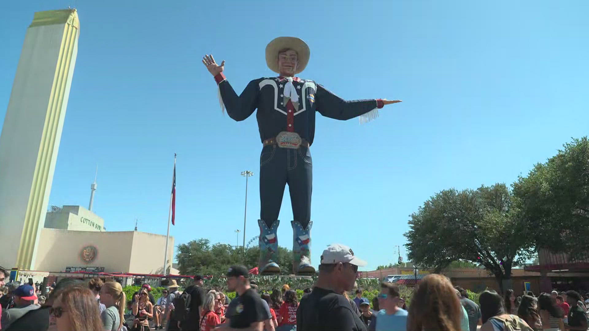
[[[94,246],[97,257],[85,263],[80,257],[82,248]],[[164,262],[166,236],[138,231],[41,231],[37,264],[34,270],[63,272],[65,267],[104,267],[105,272],[161,273]],[[168,261],[174,251],[170,237]]]

